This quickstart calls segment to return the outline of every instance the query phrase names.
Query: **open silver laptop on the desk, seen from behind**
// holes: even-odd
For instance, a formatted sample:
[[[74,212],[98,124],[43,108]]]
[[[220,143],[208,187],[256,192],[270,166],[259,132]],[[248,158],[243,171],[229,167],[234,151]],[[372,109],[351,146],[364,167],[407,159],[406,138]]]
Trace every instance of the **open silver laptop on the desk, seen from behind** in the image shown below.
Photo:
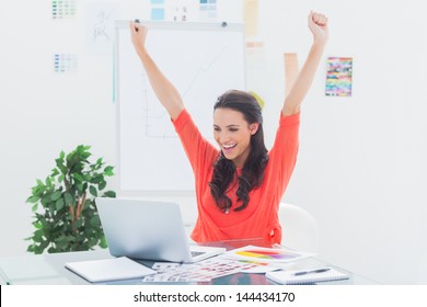
[[[96,197],[95,204],[114,257],[188,263],[226,251],[191,245],[176,203]]]

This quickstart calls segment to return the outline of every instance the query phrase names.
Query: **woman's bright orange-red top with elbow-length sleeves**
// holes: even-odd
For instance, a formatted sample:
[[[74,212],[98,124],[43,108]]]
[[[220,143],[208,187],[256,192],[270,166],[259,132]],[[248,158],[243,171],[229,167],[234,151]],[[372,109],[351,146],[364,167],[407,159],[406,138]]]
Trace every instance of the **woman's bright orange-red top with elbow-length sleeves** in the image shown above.
[[[297,161],[300,114],[280,116],[262,185],[251,191],[247,207],[240,212],[233,211],[238,186],[232,189],[227,194],[233,203],[228,214],[216,206],[209,189],[219,150],[201,136],[186,110],[173,124],[195,175],[198,217],[192,238],[196,242],[263,238],[280,243],[278,207]]]

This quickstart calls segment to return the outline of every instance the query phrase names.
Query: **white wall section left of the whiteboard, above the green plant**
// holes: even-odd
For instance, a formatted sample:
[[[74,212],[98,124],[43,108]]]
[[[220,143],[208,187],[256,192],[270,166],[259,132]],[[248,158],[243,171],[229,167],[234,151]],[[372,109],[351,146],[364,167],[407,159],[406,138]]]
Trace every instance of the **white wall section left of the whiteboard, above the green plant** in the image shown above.
[[[16,254],[34,230],[25,200],[61,150],[86,144],[95,158],[114,162],[112,59],[85,56],[81,23],[53,21],[51,1],[8,1],[0,10],[0,253]],[[58,52],[79,54],[80,69],[55,73]]]

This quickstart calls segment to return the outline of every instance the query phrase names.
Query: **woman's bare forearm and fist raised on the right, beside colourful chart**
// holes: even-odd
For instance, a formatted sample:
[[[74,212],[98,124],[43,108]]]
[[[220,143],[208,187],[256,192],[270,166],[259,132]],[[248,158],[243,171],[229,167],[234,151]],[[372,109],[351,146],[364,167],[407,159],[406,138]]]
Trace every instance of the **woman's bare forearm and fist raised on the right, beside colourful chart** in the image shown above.
[[[302,100],[313,82],[328,38],[327,18],[325,15],[310,12],[308,24],[313,34],[313,44],[292,88],[285,98],[284,107],[281,109],[284,115],[292,115],[300,112]]]

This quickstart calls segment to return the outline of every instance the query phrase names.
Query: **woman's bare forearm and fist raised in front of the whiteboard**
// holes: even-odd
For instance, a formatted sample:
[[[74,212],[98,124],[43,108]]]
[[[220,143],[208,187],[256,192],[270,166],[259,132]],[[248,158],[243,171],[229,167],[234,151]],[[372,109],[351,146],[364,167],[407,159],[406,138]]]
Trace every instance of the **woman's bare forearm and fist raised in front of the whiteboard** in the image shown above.
[[[166,109],[171,118],[176,120],[184,109],[184,103],[178,91],[160,71],[146,49],[147,27],[136,22],[130,22],[129,26],[131,42],[147,71],[151,88],[162,105]]]

